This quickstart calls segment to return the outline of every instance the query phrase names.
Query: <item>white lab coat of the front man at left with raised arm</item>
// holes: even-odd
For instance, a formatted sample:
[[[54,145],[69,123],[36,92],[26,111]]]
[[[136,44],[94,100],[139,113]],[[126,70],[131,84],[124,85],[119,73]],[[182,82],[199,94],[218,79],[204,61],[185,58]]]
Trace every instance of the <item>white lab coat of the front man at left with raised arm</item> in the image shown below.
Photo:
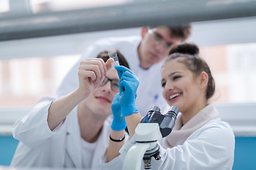
[[[12,159],[15,167],[56,167],[82,169],[82,147],[77,108],[67,116],[54,132],[48,128],[50,103],[56,98],[43,98],[31,113],[17,120],[13,135],[20,140]],[[109,144],[112,118],[105,120],[97,139],[90,169],[100,169],[100,157]],[[65,165],[65,166],[64,166]]]

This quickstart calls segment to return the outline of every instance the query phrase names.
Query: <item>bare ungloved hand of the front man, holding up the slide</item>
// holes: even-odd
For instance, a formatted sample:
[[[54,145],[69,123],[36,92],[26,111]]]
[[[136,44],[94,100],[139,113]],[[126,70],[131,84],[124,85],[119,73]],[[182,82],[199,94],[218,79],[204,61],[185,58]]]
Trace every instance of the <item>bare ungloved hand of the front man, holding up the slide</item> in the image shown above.
[[[86,59],[80,62],[79,75],[83,78],[90,77],[92,81],[100,81],[107,74],[107,66],[100,58]]]

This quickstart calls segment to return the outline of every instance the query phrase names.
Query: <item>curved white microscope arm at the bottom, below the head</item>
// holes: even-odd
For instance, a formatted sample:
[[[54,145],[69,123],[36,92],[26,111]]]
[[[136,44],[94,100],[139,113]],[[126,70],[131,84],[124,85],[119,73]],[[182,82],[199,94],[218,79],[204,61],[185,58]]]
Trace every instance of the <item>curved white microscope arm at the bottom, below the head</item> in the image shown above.
[[[150,145],[151,143],[136,143],[133,145],[127,152],[127,157],[124,159],[122,170],[142,169],[142,158],[146,152],[146,149],[148,149]],[[136,157],[134,157],[134,155],[136,155]],[[138,158],[141,159],[138,161]]]

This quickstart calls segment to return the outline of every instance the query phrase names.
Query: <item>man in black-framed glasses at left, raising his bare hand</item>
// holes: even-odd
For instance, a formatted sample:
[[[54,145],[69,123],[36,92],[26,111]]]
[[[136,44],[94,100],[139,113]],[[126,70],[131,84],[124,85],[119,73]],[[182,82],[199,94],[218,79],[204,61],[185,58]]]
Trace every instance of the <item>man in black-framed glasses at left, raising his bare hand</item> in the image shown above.
[[[129,67],[117,51],[119,64]],[[60,98],[43,98],[31,113],[17,120],[20,140],[11,166],[99,169],[108,146],[111,103],[119,92],[117,71],[107,52],[80,63],[79,86]]]

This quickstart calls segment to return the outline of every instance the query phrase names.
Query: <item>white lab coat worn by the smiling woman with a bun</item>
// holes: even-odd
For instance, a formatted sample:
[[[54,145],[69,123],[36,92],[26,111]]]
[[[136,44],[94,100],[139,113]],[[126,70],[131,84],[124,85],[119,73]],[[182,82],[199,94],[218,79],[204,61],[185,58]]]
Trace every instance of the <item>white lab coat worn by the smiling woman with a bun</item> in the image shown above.
[[[119,157],[106,163],[107,152],[101,159],[103,169],[122,169],[128,150],[134,145],[135,139],[125,143],[120,149]],[[235,137],[228,123],[219,118],[210,120],[193,132],[183,145],[164,149],[160,146],[161,159],[151,159],[151,169],[232,169],[234,161]],[[143,165],[143,162],[142,162]],[[142,169],[144,169],[142,167]]]

